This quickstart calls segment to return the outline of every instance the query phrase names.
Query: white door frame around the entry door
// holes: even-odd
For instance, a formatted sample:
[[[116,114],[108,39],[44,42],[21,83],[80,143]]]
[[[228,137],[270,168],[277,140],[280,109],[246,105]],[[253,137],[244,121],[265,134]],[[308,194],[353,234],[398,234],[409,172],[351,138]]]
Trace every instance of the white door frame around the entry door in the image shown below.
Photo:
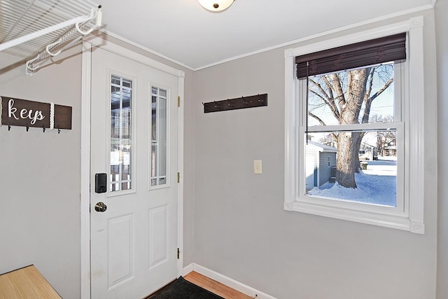
[[[109,50],[131,60],[145,64],[153,69],[164,71],[178,77],[179,97],[179,173],[178,184],[178,229],[177,246],[180,249],[177,261],[177,276],[183,269],[183,88],[185,72],[174,69],[161,62],[152,60],[144,55],[134,53],[127,48],[116,45],[104,39],[94,38],[83,42],[82,54],[82,98],[81,98],[81,177],[80,177],[80,253],[81,253],[81,298],[90,299],[90,102],[91,102],[91,74],[92,74],[92,46]]]

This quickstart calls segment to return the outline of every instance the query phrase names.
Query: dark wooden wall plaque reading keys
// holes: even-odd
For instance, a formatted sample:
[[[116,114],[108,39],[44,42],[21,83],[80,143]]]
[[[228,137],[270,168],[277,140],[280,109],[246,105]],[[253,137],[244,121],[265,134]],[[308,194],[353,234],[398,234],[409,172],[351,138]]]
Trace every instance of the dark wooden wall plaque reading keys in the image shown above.
[[[71,106],[0,97],[1,125],[71,130]]]

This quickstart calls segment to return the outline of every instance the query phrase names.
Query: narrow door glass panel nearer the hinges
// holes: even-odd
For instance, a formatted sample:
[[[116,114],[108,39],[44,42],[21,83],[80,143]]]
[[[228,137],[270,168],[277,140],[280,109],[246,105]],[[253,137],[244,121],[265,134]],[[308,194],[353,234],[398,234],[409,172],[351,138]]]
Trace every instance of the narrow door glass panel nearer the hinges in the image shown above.
[[[151,186],[167,183],[167,90],[151,88]]]

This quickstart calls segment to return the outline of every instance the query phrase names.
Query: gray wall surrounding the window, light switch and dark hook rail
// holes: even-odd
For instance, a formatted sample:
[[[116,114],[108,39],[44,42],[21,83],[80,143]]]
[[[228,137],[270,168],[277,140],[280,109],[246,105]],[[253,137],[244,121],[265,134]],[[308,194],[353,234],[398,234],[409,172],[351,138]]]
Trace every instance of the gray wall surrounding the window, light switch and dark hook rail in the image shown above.
[[[435,40],[433,11],[423,14],[426,234],[283,210],[284,49],[277,49],[195,72],[195,263],[277,298],[435,298]],[[265,92],[265,107],[202,112],[202,102]],[[253,174],[255,159],[262,175]]]

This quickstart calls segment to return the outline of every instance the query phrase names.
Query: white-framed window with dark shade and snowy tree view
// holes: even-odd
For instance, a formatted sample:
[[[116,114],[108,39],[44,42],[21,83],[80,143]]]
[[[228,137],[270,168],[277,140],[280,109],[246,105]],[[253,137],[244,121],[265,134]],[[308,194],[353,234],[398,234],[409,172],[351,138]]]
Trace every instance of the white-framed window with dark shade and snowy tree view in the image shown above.
[[[285,51],[286,210],[424,232],[422,32],[414,18]],[[332,148],[330,171],[310,146]]]

